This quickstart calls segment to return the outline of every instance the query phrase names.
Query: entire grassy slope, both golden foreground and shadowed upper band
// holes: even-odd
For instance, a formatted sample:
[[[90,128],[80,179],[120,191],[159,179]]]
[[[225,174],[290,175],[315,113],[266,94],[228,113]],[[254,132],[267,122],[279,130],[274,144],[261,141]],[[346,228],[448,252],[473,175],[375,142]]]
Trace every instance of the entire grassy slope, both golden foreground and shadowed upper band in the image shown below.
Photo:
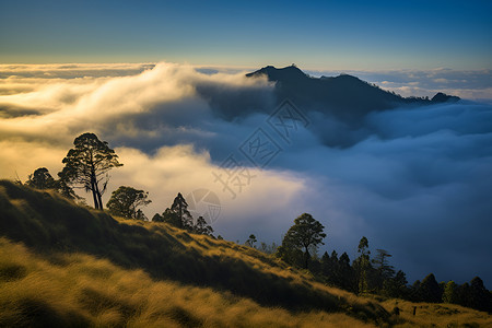
[[[115,220],[9,181],[0,181],[0,326],[396,323],[389,303],[325,286],[255,249]]]

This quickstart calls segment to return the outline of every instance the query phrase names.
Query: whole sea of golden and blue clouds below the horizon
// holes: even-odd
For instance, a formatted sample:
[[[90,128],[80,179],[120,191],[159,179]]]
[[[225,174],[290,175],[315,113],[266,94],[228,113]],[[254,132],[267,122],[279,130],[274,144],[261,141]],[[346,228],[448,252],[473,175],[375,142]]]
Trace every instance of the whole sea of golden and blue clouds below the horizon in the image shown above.
[[[430,271],[440,280],[492,277],[490,105],[373,113],[356,129],[300,108],[309,126],[292,130],[286,142],[268,124],[273,85],[241,71],[159,63],[2,66],[0,72],[2,177],[16,172],[26,179],[39,166],[55,175],[73,139],[92,131],[125,164],[112,172],[105,201],[120,185],[141,188],[150,191],[144,212],[152,216],[177,192],[207,188],[222,204],[213,227],[230,239],[255,233],[279,243],[293,220],[309,212],[327,227],[323,249],[353,259],[365,235],[372,247],[388,249],[410,280]],[[409,93],[437,84],[492,87],[483,78],[490,72],[366,74]],[[251,108],[256,114],[247,115]],[[278,145],[263,169],[245,155],[258,128]],[[214,175],[225,174],[230,156],[250,177],[230,185],[235,197]]]

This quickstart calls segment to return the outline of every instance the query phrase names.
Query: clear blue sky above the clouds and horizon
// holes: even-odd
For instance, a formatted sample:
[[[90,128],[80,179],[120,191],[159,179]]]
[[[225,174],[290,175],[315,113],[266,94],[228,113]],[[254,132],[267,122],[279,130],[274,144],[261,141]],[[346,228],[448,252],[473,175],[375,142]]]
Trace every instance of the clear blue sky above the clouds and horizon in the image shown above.
[[[0,63],[492,68],[491,1],[0,1]]]

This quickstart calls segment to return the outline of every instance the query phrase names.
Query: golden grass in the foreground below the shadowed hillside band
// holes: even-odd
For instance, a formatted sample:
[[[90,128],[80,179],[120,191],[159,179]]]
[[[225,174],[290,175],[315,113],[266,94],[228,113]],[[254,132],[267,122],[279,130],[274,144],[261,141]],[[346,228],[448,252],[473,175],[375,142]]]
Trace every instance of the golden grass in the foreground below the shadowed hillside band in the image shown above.
[[[0,278],[2,327],[375,327],[343,313],[294,314],[229,292],[155,281],[83,254],[58,255],[54,263],[5,238],[0,272],[11,272]]]

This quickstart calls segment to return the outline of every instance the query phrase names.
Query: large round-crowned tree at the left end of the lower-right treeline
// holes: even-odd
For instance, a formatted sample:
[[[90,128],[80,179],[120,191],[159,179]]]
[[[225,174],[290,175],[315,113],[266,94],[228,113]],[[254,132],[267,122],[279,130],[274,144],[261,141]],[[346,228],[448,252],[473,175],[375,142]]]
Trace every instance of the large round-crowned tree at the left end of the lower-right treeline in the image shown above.
[[[309,248],[316,247],[323,243],[326,234],[323,232],[325,226],[316,221],[311,214],[304,213],[294,220],[282,241],[282,246],[294,247],[304,250],[304,268],[307,269],[311,254]],[[285,243],[284,243],[285,242]]]

